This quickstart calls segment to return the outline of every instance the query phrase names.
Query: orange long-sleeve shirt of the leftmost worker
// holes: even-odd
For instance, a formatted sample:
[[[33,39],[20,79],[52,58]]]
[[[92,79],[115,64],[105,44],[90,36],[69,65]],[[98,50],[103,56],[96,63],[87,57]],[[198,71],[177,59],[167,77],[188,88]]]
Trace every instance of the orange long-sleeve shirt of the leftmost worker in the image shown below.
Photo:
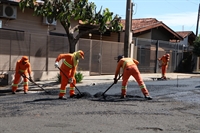
[[[15,72],[19,73],[19,71],[22,73],[29,73],[31,75],[31,64],[29,62],[22,64],[22,61],[18,60],[16,63]]]

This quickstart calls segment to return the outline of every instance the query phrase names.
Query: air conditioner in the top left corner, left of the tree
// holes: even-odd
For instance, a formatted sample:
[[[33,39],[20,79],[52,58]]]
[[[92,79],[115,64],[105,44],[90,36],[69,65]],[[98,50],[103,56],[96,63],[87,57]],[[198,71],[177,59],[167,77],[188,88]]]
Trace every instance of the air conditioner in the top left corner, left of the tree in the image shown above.
[[[5,4],[0,5],[0,17],[16,19],[17,7]]]

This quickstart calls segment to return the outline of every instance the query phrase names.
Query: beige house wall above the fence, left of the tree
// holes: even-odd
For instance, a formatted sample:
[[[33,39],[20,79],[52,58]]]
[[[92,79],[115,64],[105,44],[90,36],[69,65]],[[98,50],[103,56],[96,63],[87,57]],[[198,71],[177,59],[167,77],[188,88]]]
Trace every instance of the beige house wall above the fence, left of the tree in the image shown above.
[[[37,34],[48,34],[49,31],[65,34],[65,30],[57,21],[57,24],[47,25],[43,23],[42,16],[33,16],[33,9],[26,8],[22,12],[19,7],[17,7],[17,18],[7,19],[0,18],[2,20],[3,29],[20,30],[26,33],[37,33]],[[78,21],[72,21],[72,26],[77,25]]]

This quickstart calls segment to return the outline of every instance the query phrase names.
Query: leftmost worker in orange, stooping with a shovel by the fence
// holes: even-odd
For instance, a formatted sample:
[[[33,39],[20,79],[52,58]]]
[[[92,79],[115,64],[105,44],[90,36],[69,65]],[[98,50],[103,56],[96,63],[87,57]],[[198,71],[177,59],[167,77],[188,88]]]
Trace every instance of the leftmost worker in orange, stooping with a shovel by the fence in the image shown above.
[[[31,78],[31,64],[28,60],[27,56],[23,56],[20,60],[16,63],[15,68],[15,79],[12,85],[12,93],[15,94],[18,88],[18,83],[21,79],[21,76],[24,80],[24,94],[27,94],[28,91],[28,79],[26,78],[29,75],[29,80],[32,82]]]

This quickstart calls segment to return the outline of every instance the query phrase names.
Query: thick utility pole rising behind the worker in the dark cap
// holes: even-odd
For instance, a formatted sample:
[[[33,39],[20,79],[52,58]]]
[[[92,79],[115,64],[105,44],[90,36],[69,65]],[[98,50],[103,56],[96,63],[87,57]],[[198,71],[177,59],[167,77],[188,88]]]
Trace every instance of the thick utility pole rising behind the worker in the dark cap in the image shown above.
[[[126,3],[126,20],[125,20],[125,36],[124,36],[124,57],[129,56],[130,38],[132,38],[132,6],[131,0],[127,0]]]

